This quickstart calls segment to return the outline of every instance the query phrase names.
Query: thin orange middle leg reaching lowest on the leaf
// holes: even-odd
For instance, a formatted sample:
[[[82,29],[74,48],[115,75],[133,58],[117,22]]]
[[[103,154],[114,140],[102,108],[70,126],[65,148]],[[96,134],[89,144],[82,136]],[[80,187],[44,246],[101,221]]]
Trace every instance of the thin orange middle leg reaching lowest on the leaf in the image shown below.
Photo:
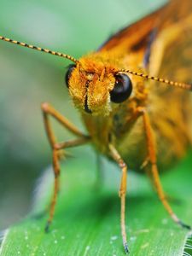
[[[121,234],[123,238],[123,245],[125,248],[125,253],[129,253],[129,248],[126,240],[126,230],[125,230],[125,195],[126,195],[126,177],[127,177],[127,166],[120,157],[118,151],[116,148],[113,147],[113,145],[109,144],[109,150],[111,152],[111,155],[113,157],[113,160],[115,160],[121,171],[121,183],[120,183],[120,189],[119,189],[119,197],[120,197],[120,224],[121,224]]]

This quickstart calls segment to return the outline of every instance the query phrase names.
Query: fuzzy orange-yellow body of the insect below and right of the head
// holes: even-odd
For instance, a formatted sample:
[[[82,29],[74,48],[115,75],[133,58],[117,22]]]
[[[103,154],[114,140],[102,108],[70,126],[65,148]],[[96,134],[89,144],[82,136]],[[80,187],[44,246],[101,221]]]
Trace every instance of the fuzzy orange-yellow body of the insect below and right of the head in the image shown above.
[[[141,172],[140,167],[148,152],[143,119],[141,116],[134,118],[134,113],[138,107],[146,108],[154,128],[158,164],[165,169],[174,160],[181,158],[191,143],[192,108],[189,92],[168,89],[166,85],[158,90],[154,82],[131,79],[134,81],[134,92],[127,101],[111,103],[109,113],[106,110],[102,115],[82,112],[84,123],[92,143],[102,154],[110,157],[110,140],[130,168]],[[94,99],[97,101],[96,95]]]

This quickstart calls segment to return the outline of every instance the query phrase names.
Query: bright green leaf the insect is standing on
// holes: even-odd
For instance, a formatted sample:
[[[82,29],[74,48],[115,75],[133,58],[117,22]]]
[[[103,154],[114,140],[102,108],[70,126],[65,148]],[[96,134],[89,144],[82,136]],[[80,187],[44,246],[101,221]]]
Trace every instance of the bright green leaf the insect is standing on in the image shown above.
[[[102,160],[103,183],[96,189],[94,154],[90,148],[77,149],[76,154],[79,157],[63,163],[61,193],[49,233],[44,232],[47,214],[39,213],[47,206],[52,190],[50,168],[44,172],[38,187],[33,213],[6,230],[1,256],[125,255],[119,229],[118,167]],[[162,177],[166,192],[174,198],[173,209],[188,224],[192,224],[191,157],[189,153]],[[130,172],[128,187],[126,218],[130,255],[188,255],[183,250],[189,232],[172,222],[147,177]]]

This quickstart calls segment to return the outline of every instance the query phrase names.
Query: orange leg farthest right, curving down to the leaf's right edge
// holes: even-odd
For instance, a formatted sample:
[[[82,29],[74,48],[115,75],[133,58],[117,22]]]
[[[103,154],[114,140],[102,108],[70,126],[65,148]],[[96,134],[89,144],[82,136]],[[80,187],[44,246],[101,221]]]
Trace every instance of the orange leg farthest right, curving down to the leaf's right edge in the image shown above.
[[[179,218],[177,218],[177,215],[175,214],[175,212],[173,212],[172,207],[170,206],[169,202],[166,199],[166,195],[160,183],[160,176],[159,176],[159,172],[156,164],[154,133],[150,125],[150,119],[148,117],[148,113],[145,111],[145,109],[143,109],[142,112],[143,112],[143,125],[146,132],[146,139],[148,144],[148,157],[151,164],[151,172],[152,172],[155,190],[160,198],[160,201],[162,202],[163,206],[166,208],[166,211],[169,213],[172,219],[180,226],[190,230],[191,227],[188,224],[183,224],[183,222]]]

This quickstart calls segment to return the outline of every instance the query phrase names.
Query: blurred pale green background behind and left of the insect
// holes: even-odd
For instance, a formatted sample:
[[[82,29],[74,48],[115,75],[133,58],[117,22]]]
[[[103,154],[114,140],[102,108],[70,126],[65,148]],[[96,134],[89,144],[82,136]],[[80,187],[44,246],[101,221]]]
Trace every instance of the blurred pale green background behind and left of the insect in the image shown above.
[[[165,2],[1,0],[0,34],[79,57]],[[50,102],[84,129],[64,84],[68,64],[0,42],[0,230],[30,211],[37,178],[51,161],[40,103]],[[58,125],[55,130],[69,138]]]

